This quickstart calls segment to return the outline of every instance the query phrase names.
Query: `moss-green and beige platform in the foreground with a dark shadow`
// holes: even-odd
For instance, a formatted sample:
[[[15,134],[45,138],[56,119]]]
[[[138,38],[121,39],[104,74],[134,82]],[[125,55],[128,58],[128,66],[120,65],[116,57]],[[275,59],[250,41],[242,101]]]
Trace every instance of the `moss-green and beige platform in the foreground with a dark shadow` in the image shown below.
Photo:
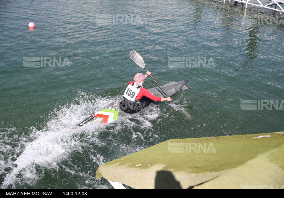
[[[100,165],[135,189],[284,189],[284,132],[170,139]]]

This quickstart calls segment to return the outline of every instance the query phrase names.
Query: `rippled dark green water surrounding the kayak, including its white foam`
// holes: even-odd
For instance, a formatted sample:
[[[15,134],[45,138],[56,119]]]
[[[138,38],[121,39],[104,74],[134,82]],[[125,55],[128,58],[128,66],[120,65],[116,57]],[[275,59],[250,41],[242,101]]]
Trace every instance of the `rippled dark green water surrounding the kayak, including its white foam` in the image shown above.
[[[100,164],[168,139],[283,131],[284,110],[241,109],[241,99],[284,100],[283,25],[279,13],[222,1],[1,1],[1,187],[109,188],[95,179]],[[161,85],[189,79],[172,98],[193,105],[192,119],[164,102],[69,132],[143,72],[132,50]],[[27,68],[24,56],[70,65]]]

